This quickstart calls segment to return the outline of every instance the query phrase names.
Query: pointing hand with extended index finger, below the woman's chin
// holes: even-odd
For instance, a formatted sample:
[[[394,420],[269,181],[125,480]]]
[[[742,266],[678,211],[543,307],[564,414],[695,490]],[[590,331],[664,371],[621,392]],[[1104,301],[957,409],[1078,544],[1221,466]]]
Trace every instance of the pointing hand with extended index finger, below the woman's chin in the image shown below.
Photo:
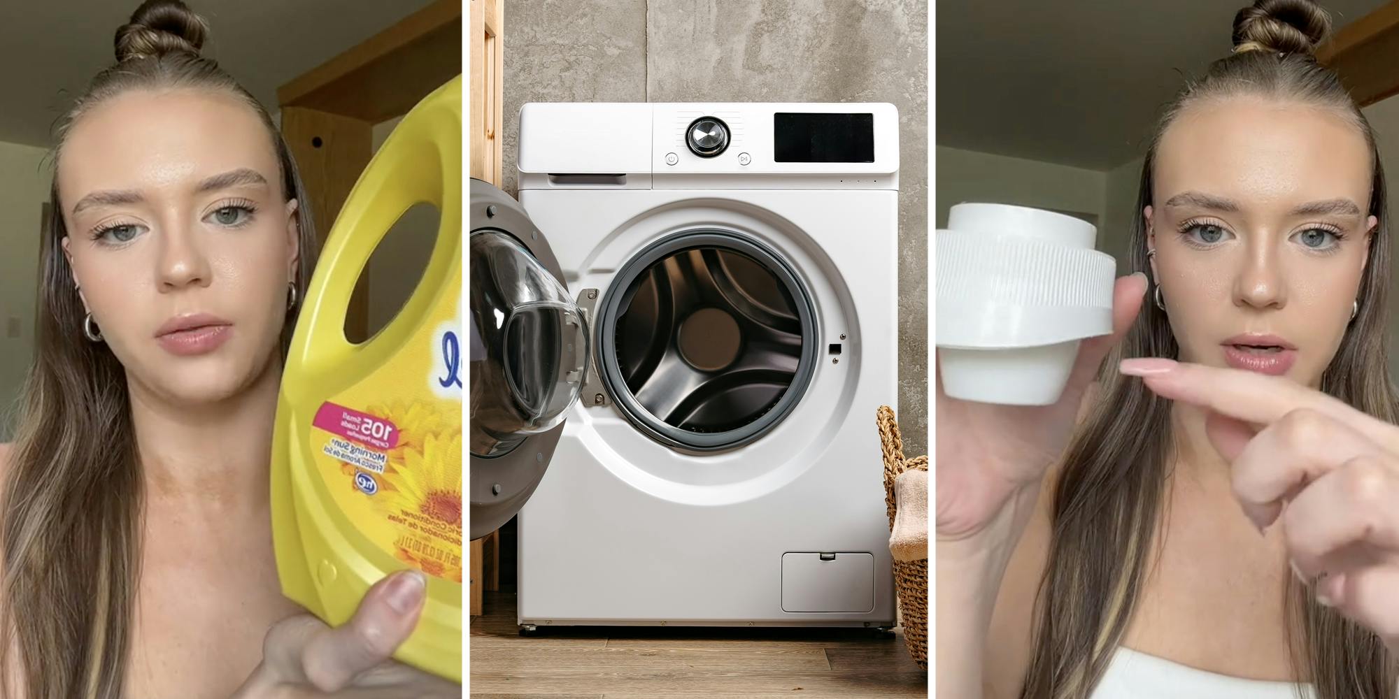
[[[1170,359],[1122,372],[1209,411],[1248,519],[1260,531],[1280,521],[1316,600],[1399,653],[1399,426],[1279,376]]]

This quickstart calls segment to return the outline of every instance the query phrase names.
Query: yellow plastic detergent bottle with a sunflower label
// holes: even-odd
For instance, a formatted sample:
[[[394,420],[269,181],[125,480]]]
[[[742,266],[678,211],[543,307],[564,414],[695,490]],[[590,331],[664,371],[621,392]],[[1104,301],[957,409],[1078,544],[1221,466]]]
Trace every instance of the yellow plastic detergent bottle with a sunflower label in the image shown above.
[[[403,310],[344,336],[369,254],[413,204],[441,228]],[[427,605],[395,657],[462,681],[462,77],[409,112],[360,176],[325,250],[281,380],[271,464],[283,593],[326,624],[369,586],[427,573]]]

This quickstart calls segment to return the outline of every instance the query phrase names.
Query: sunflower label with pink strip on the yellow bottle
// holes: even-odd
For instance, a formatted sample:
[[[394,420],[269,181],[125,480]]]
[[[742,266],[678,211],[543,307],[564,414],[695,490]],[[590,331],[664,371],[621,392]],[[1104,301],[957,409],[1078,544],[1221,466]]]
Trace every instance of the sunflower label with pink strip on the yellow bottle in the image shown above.
[[[443,291],[390,361],[320,404],[312,440],[316,471],[369,541],[460,583],[460,281]]]

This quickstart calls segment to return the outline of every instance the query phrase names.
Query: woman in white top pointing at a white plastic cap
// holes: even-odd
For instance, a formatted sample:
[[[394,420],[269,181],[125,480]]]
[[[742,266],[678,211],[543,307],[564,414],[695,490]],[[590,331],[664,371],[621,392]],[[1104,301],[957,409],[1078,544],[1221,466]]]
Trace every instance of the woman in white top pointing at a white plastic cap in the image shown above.
[[[939,391],[940,692],[1395,696],[1385,183],[1328,31],[1259,0],[1167,110],[1059,404]]]

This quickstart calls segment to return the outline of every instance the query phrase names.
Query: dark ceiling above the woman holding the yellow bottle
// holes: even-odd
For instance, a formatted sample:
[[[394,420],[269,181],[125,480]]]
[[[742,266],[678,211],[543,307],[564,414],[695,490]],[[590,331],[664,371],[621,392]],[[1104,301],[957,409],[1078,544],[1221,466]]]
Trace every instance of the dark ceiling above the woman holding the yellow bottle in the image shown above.
[[[11,0],[0,0],[10,4]],[[204,56],[257,99],[392,27],[429,0],[186,0],[210,25]],[[0,13],[0,141],[49,145],[53,122],[115,56],[139,0],[48,0]]]

